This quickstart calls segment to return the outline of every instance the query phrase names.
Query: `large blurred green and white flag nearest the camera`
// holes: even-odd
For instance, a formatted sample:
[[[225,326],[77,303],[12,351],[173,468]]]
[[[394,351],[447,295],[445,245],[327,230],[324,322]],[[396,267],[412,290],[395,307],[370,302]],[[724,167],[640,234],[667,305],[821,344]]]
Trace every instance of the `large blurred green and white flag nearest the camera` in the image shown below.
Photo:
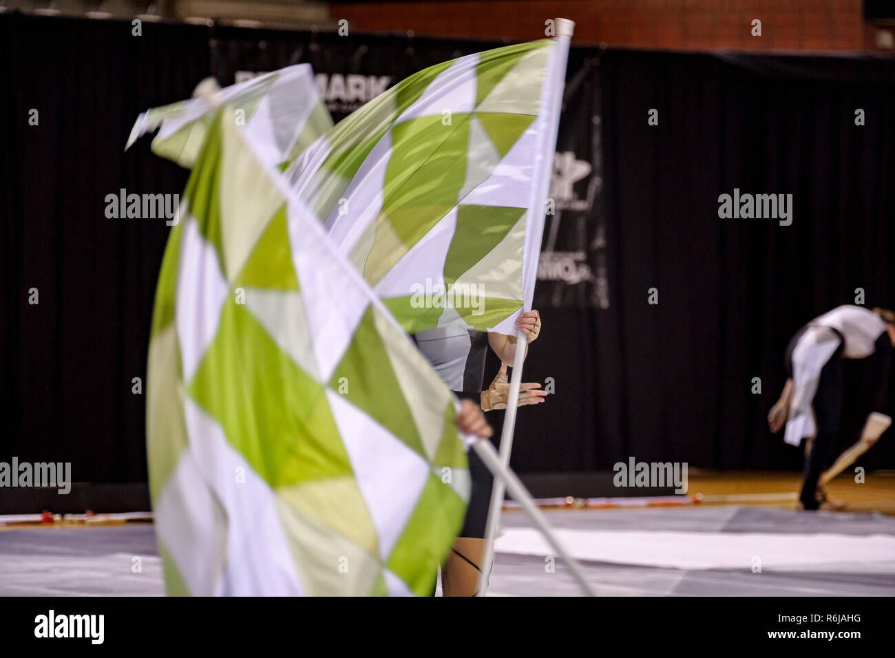
[[[149,490],[168,594],[429,594],[456,399],[221,107],[158,279]]]

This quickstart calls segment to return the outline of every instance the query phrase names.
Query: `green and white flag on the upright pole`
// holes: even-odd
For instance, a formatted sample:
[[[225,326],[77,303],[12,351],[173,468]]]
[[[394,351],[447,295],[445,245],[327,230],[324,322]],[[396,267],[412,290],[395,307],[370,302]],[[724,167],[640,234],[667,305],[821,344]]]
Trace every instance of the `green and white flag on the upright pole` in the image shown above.
[[[531,307],[567,44],[502,47],[415,73],[286,169],[407,331],[515,334]]]

